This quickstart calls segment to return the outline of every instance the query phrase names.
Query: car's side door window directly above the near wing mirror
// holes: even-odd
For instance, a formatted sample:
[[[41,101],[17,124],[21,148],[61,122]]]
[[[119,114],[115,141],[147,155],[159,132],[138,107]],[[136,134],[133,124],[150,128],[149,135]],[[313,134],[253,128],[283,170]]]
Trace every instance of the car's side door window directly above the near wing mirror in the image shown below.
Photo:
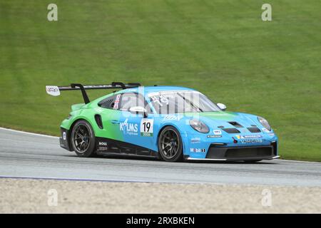
[[[151,108],[149,107],[148,103],[146,103],[146,100],[142,95],[138,95],[138,93],[123,93],[121,96],[119,110],[128,111],[130,108],[135,106],[146,108],[148,113],[151,113]]]

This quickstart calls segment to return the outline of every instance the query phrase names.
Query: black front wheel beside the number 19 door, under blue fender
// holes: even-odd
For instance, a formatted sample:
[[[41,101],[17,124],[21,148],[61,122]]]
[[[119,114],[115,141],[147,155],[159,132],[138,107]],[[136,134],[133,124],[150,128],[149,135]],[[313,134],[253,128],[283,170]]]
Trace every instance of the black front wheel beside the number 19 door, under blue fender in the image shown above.
[[[176,128],[168,126],[162,130],[158,137],[158,151],[166,162],[182,160],[183,142]]]

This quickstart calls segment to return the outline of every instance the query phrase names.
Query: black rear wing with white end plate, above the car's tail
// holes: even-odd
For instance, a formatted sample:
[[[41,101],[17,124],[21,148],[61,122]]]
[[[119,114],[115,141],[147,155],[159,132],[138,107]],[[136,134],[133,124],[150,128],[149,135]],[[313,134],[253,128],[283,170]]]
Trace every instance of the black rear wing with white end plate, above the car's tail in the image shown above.
[[[58,96],[60,95],[60,91],[66,90],[81,90],[83,95],[83,100],[86,104],[90,103],[86,90],[102,90],[102,89],[126,89],[126,88],[135,88],[141,86],[140,83],[120,83],[120,82],[113,82],[110,85],[86,85],[83,86],[81,84],[73,83],[70,86],[46,86],[46,92],[49,95]]]

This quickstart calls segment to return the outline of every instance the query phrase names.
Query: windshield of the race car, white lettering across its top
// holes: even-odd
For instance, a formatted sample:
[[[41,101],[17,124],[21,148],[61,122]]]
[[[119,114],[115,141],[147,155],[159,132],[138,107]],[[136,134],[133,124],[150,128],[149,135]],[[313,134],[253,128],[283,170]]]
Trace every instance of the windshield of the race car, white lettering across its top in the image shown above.
[[[197,91],[163,91],[150,93],[148,97],[158,114],[203,113],[220,110],[210,99]]]

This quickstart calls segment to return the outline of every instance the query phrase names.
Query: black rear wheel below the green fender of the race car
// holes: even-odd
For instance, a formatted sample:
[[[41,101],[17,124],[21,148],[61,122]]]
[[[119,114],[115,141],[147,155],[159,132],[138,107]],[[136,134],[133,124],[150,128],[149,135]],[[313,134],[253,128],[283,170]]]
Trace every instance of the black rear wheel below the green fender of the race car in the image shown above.
[[[71,145],[79,157],[92,157],[95,150],[95,135],[91,125],[80,120],[71,131]]]

